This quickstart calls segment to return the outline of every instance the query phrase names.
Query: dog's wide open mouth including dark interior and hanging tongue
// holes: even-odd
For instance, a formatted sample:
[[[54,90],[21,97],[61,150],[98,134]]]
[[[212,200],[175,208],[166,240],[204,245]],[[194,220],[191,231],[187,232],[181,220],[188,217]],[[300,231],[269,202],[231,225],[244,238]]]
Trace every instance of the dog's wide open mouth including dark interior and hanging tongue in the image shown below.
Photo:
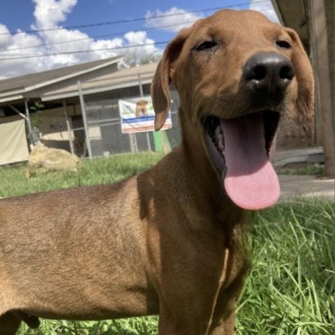
[[[225,193],[239,207],[262,209],[279,198],[278,177],[269,161],[279,118],[278,112],[265,110],[235,119],[210,115],[203,121],[211,161]]]

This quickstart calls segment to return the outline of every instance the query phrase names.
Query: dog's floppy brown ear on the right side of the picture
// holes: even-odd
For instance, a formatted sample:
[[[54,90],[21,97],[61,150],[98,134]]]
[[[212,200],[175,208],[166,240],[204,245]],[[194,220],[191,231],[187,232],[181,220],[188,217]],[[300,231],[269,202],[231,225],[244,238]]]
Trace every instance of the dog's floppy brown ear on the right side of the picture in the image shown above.
[[[314,77],[311,62],[298,34],[285,28],[293,42],[292,64],[298,83],[297,117],[307,135],[314,134]]]

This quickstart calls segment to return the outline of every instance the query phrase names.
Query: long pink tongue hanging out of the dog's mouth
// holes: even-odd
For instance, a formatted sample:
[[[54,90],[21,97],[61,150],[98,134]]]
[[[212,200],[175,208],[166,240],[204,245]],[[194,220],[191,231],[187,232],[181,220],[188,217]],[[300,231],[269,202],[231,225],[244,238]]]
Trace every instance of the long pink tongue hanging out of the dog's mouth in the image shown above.
[[[221,121],[225,139],[225,191],[244,209],[274,204],[281,193],[278,177],[267,159],[261,115]]]

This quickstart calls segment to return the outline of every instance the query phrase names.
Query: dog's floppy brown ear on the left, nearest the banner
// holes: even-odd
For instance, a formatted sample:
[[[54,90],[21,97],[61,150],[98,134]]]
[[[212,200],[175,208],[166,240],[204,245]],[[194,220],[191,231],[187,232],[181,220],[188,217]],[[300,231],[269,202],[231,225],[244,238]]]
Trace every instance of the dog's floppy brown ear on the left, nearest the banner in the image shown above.
[[[151,82],[151,98],[155,110],[155,131],[159,131],[163,127],[168,117],[171,105],[169,86],[174,72],[174,63],[177,61],[190,31],[191,28],[181,30],[167,45]]]

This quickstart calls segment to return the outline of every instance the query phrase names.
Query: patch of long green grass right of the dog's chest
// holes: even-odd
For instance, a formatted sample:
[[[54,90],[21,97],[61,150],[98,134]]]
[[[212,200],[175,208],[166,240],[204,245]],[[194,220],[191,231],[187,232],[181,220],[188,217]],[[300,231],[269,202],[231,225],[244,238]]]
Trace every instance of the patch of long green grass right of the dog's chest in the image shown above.
[[[333,334],[334,203],[277,204],[249,229],[253,267],[237,334]]]

